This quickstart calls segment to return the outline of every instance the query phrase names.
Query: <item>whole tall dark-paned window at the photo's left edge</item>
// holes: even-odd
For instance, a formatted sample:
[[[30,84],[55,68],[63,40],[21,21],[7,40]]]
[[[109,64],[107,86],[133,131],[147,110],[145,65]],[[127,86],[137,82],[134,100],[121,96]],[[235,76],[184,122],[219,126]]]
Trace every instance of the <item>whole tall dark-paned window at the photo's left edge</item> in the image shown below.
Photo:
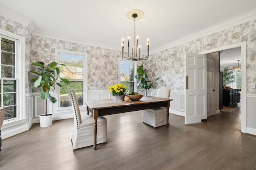
[[[0,34],[0,39],[0,107],[6,108],[6,124],[25,117],[25,38],[7,32],[5,35]]]

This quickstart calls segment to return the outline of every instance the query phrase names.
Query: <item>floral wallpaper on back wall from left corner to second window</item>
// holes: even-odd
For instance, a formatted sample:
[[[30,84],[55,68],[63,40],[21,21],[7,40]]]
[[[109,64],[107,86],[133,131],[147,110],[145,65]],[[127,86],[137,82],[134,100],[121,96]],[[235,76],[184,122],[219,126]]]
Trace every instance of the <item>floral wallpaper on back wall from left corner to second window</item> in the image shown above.
[[[32,42],[32,63],[54,61],[55,49],[88,53],[88,90],[108,90],[110,86],[118,83],[121,51],[37,36],[32,37]],[[38,89],[33,88],[33,92],[36,91]]]

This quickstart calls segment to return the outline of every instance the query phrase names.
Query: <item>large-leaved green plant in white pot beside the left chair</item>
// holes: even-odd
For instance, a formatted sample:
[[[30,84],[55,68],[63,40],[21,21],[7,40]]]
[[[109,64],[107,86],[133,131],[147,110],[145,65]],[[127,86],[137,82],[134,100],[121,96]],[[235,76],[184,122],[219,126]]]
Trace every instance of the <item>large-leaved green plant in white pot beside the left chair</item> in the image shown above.
[[[34,87],[42,88],[40,97],[42,99],[45,99],[45,104],[46,104],[45,114],[40,115],[40,117],[39,117],[40,126],[48,127],[48,126],[52,125],[52,114],[47,113],[47,99],[52,103],[57,102],[56,98],[51,96],[50,90],[52,90],[54,92],[56,85],[61,87],[61,84],[56,82],[58,80],[58,78],[60,78],[63,82],[69,84],[68,79],[61,78],[59,76],[60,71],[66,65],[58,64],[55,61],[53,61],[50,64],[47,64],[46,66],[43,62],[35,62],[32,65],[40,67],[40,68],[37,68],[38,71],[30,71],[30,72],[38,75],[37,78],[32,78],[31,81],[34,82]],[[55,77],[55,76],[57,76],[57,77]]]

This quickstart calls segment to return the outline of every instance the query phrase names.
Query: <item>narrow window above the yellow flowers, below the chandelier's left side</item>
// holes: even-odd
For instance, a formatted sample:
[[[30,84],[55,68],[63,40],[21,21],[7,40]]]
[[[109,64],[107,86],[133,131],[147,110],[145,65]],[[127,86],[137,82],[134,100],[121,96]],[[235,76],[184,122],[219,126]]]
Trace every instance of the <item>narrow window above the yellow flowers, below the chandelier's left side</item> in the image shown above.
[[[134,62],[120,61],[120,82],[129,92],[134,92]]]

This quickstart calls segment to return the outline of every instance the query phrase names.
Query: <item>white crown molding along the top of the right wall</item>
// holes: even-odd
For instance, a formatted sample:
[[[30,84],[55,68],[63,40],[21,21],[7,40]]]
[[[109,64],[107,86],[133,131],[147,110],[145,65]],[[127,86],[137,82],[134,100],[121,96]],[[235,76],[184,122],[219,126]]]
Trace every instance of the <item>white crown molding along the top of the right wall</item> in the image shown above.
[[[246,12],[244,14],[241,14],[239,16],[233,17],[226,21],[220,22],[216,25],[212,25],[210,27],[207,27],[205,29],[202,29],[200,31],[192,33],[190,35],[184,36],[180,39],[177,39],[177,40],[167,43],[165,45],[162,45],[162,47],[154,49],[153,51],[151,51],[151,53],[154,54],[159,51],[163,51],[168,48],[175,47],[177,45],[180,45],[180,44],[183,44],[183,43],[186,43],[186,42],[189,42],[189,41],[222,31],[224,29],[228,29],[230,27],[234,27],[234,26],[237,26],[242,23],[246,23],[248,21],[255,20],[255,19],[256,19],[256,9]]]

